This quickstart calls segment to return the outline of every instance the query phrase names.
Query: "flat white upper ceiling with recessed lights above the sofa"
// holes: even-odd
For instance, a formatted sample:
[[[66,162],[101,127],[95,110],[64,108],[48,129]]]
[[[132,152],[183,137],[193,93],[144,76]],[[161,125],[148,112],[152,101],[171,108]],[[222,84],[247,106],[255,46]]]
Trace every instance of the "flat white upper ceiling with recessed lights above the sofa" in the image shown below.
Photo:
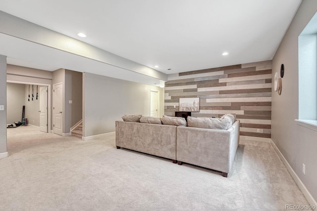
[[[0,10],[172,74],[272,59],[300,3],[301,0],[1,0]],[[79,32],[87,37],[78,37]],[[222,56],[224,51],[229,54]],[[24,61],[37,69],[63,68],[58,63],[47,67],[21,57],[8,57],[9,64],[23,66]]]

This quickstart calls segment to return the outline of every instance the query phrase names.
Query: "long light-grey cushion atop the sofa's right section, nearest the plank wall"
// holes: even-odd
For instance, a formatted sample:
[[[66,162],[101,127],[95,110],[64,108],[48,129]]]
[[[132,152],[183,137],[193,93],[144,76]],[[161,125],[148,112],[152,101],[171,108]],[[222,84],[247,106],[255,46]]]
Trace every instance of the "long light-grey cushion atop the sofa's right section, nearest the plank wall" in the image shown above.
[[[228,129],[232,126],[228,118],[187,117],[188,127],[199,127],[207,129]]]

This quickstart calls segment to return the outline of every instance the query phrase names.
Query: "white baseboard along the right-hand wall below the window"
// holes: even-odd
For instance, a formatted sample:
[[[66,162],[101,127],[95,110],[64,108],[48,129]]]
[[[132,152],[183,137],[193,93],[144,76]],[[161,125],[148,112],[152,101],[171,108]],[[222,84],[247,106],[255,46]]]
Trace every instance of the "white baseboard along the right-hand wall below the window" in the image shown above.
[[[307,190],[306,186],[304,185],[304,183],[302,182],[302,180],[299,178],[299,176],[296,174],[296,172],[294,171],[294,169],[291,167],[291,165],[289,165],[289,163],[287,162],[287,160],[285,159],[285,157],[283,156],[283,154],[281,153],[281,151],[279,151],[279,149],[277,148],[277,146],[275,145],[275,143],[272,141],[272,139],[270,140],[271,145],[273,146],[273,148],[275,149],[276,153],[278,154],[278,156],[280,157],[280,159],[282,160],[283,164],[285,165],[286,169],[288,170],[288,172],[291,174],[291,176],[293,177],[294,181],[296,182],[297,186],[299,187],[299,189],[301,189],[302,193],[304,194],[304,196],[306,197],[307,201],[310,203],[310,205],[317,207],[317,202],[316,200],[313,198],[312,194]]]

